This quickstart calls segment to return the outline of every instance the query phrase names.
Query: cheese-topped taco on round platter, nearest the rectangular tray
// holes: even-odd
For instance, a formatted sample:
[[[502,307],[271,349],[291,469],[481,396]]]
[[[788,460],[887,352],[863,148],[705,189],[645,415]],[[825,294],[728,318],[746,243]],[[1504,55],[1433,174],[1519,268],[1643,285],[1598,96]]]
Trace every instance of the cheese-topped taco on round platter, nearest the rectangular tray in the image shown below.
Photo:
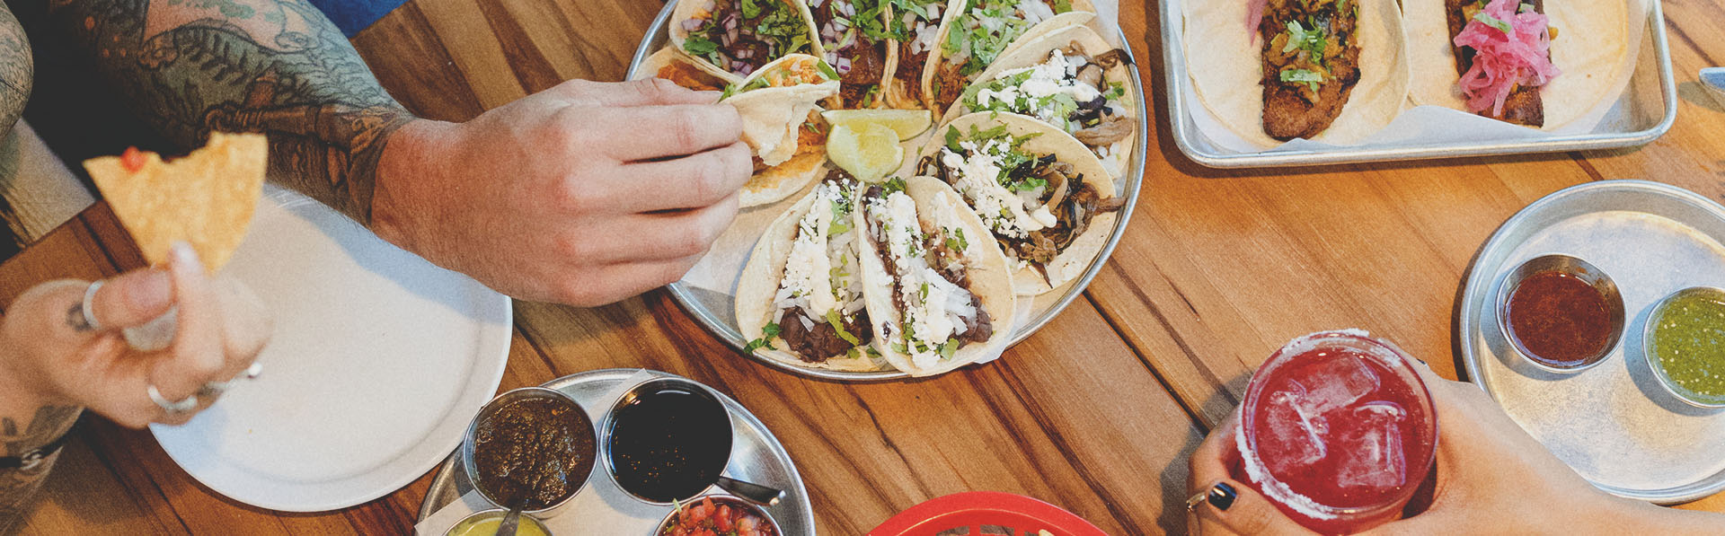
[[[1138,131],[1137,95],[1125,50],[1087,26],[1068,26],[988,65],[947,110],[1011,112],[1047,122],[1083,141],[1120,178]]]

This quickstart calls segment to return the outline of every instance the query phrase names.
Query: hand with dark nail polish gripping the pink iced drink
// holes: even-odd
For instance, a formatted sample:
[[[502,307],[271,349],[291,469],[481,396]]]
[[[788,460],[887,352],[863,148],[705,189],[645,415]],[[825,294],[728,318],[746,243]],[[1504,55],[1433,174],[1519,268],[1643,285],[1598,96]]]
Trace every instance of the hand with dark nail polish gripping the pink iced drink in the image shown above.
[[[1437,408],[1437,483],[1430,505],[1366,534],[1673,534],[1722,531],[1725,517],[1630,502],[1599,491],[1551,455],[1485,391],[1414,364]],[[1235,481],[1235,421],[1218,424],[1190,460],[1187,488],[1206,500],[1199,534],[1313,534],[1256,489]],[[1420,496],[1414,496],[1420,502]],[[1651,534],[1649,533],[1649,534]]]

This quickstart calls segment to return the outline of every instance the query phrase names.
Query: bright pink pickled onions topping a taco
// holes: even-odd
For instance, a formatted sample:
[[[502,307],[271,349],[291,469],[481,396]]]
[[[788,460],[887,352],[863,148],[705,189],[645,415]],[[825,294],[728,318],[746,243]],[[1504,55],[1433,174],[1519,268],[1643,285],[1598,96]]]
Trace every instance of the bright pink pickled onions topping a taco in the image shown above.
[[[1473,48],[1473,67],[1461,76],[1461,97],[1468,110],[1492,110],[1502,115],[1504,100],[1515,86],[1544,86],[1561,74],[1551,64],[1549,19],[1544,14],[1518,14],[1520,0],[1492,0],[1482,14],[1509,24],[1509,33],[1480,21],[1456,34],[1456,47]]]

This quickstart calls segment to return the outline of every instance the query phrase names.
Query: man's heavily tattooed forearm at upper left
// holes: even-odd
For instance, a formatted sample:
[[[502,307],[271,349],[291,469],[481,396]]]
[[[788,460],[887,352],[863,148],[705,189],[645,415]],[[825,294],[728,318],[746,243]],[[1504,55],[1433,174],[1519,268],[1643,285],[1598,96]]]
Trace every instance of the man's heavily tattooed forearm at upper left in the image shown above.
[[[50,0],[133,110],[174,143],[269,134],[271,179],[371,221],[378,157],[412,119],[304,0]]]

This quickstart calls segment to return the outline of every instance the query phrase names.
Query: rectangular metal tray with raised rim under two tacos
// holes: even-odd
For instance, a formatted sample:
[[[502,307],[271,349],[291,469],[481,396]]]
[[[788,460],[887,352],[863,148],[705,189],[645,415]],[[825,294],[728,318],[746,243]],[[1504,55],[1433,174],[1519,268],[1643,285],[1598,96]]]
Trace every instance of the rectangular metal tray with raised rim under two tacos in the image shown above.
[[[1195,0],[1185,0],[1195,2]],[[1523,141],[1482,141],[1482,143],[1409,143],[1409,145],[1375,145],[1342,146],[1325,150],[1276,150],[1235,153],[1213,145],[1192,121],[1192,107],[1202,107],[1194,95],[1185,95],[1187,62],[1182,48],[1182,28],[1175,2],[1161,2],[1163,17],[1163,93],[1168,95],[1168,117],[1173,126],[1175,145],[1197,164],[1208,167],[1287,167],[1287,165],[1321,165],[1349,162],[1382,160],[1427,160],[1478,155],[1515,155],[1571,152],[1592,148],[1640,146],[1665,134],[1677,121],[1677,79],[1672,74],[1672,52],[1665,41],[1665,12],[1659,0],[1651,0],[1647,9],[1647,31],[1642,31],[1635,71],[1623,90],[1615,110],[1625,114],[1628,128],[1623,131],[1596,131],[1585,134],[1566,134]]]

